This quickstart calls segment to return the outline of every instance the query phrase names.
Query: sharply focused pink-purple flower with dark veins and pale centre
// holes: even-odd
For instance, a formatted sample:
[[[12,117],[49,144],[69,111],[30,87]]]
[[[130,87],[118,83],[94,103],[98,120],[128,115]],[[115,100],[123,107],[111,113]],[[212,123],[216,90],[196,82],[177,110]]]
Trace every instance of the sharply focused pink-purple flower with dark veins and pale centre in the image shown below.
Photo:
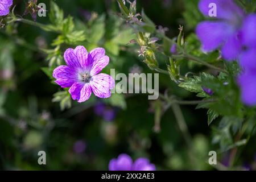
[[[73,100],[84,102],[92,92],[100,98],[111,96],[110,89],[114,88],[114,79],[100,73],[109,64],[104,48],[96,48],[87,53],[83,46],[69,48],[64,53],[67,65],[54,69],[53,77],[62,88],[69,88]],[[99,74],[100,73],[100,74]]]

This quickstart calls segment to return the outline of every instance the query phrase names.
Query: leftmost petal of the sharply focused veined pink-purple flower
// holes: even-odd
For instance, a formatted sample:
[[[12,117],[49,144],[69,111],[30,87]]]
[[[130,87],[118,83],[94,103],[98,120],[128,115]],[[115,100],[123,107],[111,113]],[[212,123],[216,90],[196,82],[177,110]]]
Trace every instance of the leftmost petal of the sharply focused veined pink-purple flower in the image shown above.
[[[76,75],[73,69],[66,65],[61,65],[53,70],[52,76],[62,88],[70,87],[76,81]]]

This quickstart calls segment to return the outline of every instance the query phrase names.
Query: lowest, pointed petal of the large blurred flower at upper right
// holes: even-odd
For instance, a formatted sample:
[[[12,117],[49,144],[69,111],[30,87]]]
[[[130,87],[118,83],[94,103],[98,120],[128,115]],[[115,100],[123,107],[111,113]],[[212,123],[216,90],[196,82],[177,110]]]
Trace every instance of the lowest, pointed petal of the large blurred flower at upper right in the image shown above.
[[[238,55],[240,55],[242,51],[242,40],[241,40],[241,34],[238,32],[224,44],[222,47],[222,56],[224,59],[232,61],[236,60],[238,58]]]

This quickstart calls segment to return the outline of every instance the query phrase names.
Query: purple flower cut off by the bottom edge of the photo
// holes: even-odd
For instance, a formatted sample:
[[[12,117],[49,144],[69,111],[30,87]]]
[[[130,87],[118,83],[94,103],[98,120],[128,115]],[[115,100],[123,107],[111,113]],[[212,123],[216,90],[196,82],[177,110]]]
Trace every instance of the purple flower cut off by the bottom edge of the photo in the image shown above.
[[[117,159],[109,162],[110,171],[155,171],[155,165],[146,158],[138,158],[133,163],[127,154],[120,154]]]

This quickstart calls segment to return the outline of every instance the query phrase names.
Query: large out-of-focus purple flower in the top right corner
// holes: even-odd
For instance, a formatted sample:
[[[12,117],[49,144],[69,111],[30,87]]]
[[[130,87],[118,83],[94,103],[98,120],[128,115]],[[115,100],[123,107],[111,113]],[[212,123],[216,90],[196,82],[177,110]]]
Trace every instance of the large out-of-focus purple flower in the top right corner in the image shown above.
[[[209,14],[210,3],[217,5],[217,20],[201,22],[196,28],[203,50],[221,48],[226,60],[237,59],[242,51],[241,26],[245,14],[233,0],[201,0],[199,9],[205,16]]]

